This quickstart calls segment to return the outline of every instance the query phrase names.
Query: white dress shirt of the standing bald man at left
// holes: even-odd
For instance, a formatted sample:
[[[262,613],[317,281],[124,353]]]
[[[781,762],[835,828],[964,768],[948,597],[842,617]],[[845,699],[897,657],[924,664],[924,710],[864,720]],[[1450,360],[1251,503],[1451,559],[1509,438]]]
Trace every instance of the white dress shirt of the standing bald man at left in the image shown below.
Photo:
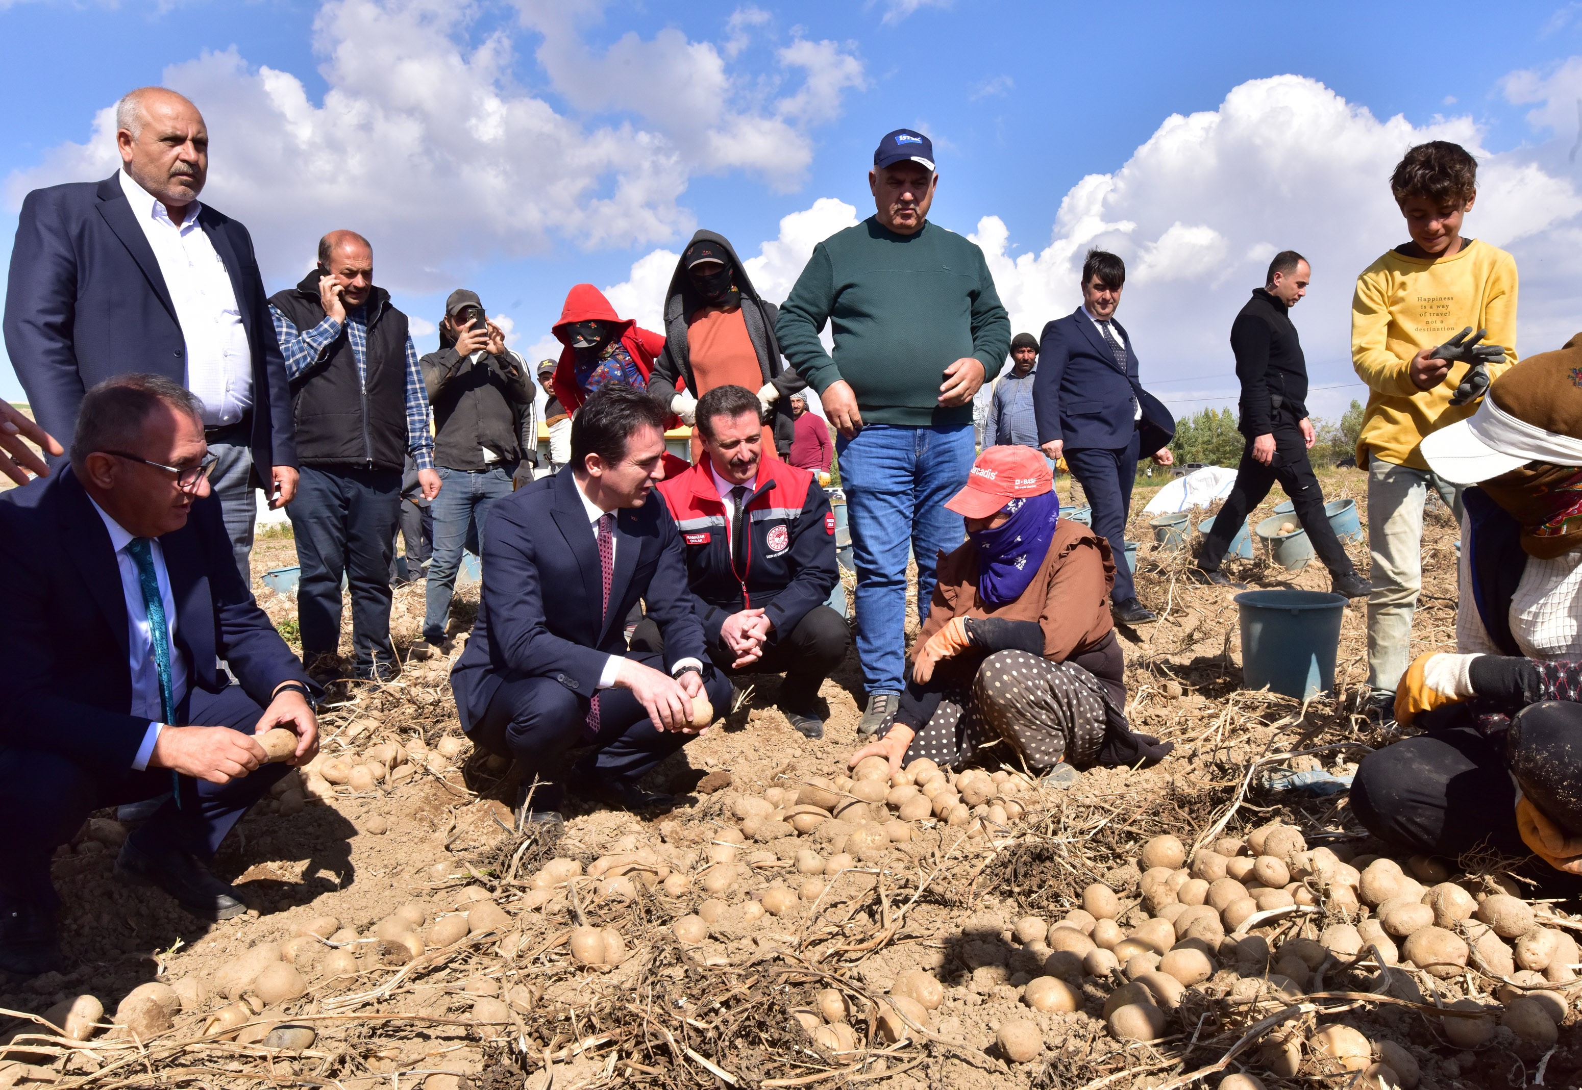
[[[127,171],[120,171],[120,188],[171,293],[187,342],[187,389],[202,402],[202,422],[236,424],[253,407],[253,354],[231,274],[198,226],[202,206],[193,201],[176,223],[165,204]]]

